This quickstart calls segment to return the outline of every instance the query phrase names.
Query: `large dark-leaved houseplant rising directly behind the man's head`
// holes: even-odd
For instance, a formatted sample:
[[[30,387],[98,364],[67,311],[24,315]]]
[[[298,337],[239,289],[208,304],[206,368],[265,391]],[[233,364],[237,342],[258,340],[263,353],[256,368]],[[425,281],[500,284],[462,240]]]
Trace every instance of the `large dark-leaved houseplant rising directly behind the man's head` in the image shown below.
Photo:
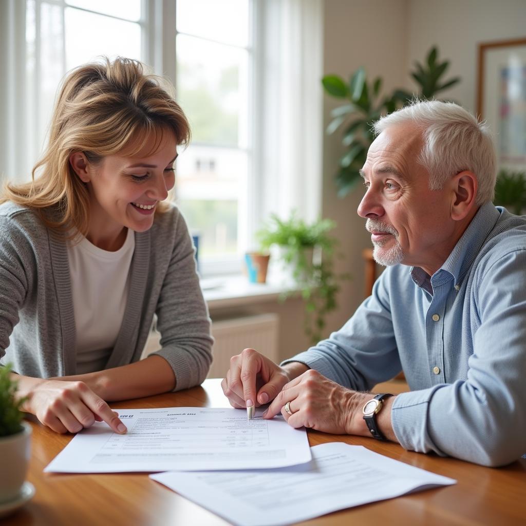
[[[418,84],[418,92],[412,94],[403,89],[395,89],[389,95],[380,97],[382,79],[377,77],[368,82],[363,67],[354,72],[347,83],[339,75],[326,75],[321,82],[326,93],[332,97],[345,99],[345,103],[331,111],[332,120],[327,126],[327,134],[343,128],[342,144],[345,147],[339,159],[336,173],[338,196],[346,196],[360,180],[359,169],[367,158],[367,150],[374,135],[372,123],[381,115],[391,113],[413,99],[431,99],[437,93],[450,88],[460,81],[459,77],[443,80],[449,60],[440,62],[438,49],[430,49],[426,62],[415,62],[411,76]]]

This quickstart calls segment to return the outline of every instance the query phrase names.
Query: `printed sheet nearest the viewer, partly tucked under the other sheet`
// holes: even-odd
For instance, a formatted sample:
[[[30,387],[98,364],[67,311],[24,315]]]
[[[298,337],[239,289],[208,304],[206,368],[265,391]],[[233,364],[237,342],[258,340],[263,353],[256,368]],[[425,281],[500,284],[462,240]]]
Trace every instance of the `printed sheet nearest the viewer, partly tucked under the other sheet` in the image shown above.
[[[362,446],[332,442],[311,451],[312,460],[295,467],[150,478],[239,526],[280,526],[456,483]]]

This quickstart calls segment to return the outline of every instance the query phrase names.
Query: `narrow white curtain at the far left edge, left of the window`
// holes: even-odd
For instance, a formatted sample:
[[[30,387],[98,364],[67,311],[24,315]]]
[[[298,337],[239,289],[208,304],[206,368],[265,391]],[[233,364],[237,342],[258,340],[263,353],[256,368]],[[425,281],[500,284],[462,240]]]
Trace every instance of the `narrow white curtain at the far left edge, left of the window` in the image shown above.
[[[35,161],[28,141],[25,12],[25,1],[0,2],[0,181],[27,180]]]

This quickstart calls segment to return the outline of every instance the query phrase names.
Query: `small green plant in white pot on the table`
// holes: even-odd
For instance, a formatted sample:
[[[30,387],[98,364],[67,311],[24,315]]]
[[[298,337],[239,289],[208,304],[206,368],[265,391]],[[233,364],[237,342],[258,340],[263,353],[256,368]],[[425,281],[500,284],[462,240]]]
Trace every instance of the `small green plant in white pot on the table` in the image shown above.
[[[17,382],[11,366],[0,366],[0,513],[14,511],[33,496],[35,489],[25,482],[31,448],[31,426],[22,421],[24,399],[16,398]]]

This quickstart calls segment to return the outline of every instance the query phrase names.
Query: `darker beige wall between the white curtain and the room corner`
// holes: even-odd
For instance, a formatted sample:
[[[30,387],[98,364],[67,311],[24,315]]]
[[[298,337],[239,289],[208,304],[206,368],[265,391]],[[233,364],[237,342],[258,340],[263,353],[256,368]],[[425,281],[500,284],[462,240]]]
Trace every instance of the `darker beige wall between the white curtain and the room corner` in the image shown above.
[[[344,78],[360,66],[367,69],[368,78],[383,78],[384,89],[402,86],[408,31],[406,0],[326,0],[325,2],[325,74],[337,73]],[[325,97],[325,125],[330,122],[330,110],[339,103]],[[333,175],[341,155],[341,136],[323,138],[323,215],[337,222],[343,259],[339,270],[350,272],[352,280],[343,286],[339,310],[330,318],[329,330],[339,328],[363,300],[363,260],[361,251],[370,246],[364,221],[356,209],[363,194],[360,185],[345,199],[336,196]]]

